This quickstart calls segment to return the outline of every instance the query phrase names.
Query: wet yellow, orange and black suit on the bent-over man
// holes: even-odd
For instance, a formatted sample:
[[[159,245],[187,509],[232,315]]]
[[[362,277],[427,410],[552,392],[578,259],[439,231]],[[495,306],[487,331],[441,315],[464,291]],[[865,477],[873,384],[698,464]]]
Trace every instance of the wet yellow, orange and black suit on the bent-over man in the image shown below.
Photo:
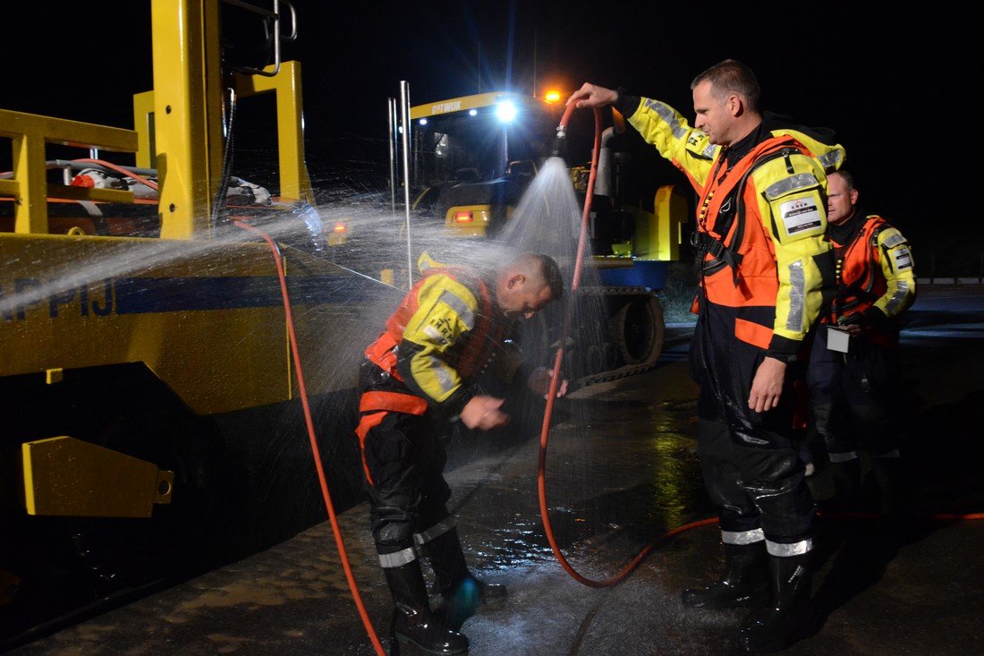
[[[415,559],[414,539],[428,529],[433,538],[434,527],[452,527],[440,437],[510,324],[478,276],[442,266],[423,274],[365,350],[361,371],[355,432],[384,567]]]

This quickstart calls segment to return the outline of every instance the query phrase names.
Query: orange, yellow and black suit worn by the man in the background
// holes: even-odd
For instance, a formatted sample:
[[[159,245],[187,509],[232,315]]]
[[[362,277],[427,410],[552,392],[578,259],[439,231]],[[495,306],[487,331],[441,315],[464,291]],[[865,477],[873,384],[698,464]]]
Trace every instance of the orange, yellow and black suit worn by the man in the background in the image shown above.
[[[830,242],[837,285],[810,355],[811,424],[834,464],[856,461],[860,446],[894,457],[904,433],[898,317],[915,300],[912,252],[901,232],[860,209],[830,226]],[[845,323],[862,332],[846,340],[846,351],[831,349],[830,327]]]

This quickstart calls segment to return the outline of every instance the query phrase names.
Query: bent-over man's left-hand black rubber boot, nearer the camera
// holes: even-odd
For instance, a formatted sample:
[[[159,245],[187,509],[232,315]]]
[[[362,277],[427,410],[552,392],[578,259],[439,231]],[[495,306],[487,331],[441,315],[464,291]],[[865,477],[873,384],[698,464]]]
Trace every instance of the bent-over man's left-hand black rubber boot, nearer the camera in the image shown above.
[[[383,571],[396,605],[393,635],[397,640],[431,654],[462,654],[468,650],[468,638],[449,629],[431,613],[419,561]]]

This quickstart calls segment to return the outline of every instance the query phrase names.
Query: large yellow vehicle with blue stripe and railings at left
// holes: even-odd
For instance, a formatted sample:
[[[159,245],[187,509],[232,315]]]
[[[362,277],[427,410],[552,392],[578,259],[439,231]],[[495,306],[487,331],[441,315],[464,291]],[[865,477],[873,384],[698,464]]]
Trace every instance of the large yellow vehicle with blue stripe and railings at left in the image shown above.
[[[316,203],[280,56],[296,13],[148,8],[132,126],[0,109],[0,647],[324,521],[305,387],[339,507],[361,483],[338,435],[400,291],[333,259],[346,228]],[[236,61],[226,26],[250,21],[266,54]],[[272,189],[232,170],[254,98],[275,108],[250,126],[276,135]]]

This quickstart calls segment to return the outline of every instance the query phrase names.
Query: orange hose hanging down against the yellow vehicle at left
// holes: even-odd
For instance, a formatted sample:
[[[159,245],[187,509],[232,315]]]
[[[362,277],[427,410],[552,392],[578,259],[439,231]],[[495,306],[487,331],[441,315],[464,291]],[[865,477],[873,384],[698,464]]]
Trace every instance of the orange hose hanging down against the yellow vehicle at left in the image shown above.
[[[297,337],[294,334],[294,319],[290,311],[290,296],[287,294],[287,280],[283,272],[283,261],[280,258],[280,249],[277,247],[277,243],[274,239],[263,230],[254,228],[253,226],[242,221],[233,221],[232,223],[237,228],[250,230],[259,234],[263,237],[264,241],[267,242],[270,246],[270,250],[274,254],[274,262],[277,265],[277,278],[280,281],[280,295],[283,297],[283,312],[286,317],[287,333],[290,337],[290,354],[293,357],[294,370],[297,372],[297,393],[301,398],[301,407],[304,409],[304,422],[307,425],[308,440],[311,443],[311,455],[314,457],[314,465],[318,470],[318,482],[321,484],[321,493],[325,499],[325,507],[328,508],[329,519],[332,521],[332,532],[335,534],[335,544],[338,547],[338,558],[341,560],[341,566],[345,571],[345,580],[348,581],[348,589],[352,593],[352,600],[355,602],[355,607],[358,609],[359,616],[362,618],[362,623],[366,628],[366,633],[369,635],[369,640],[372,642],[373,647],[375,647],[378,656],[386,656],[386,650],[383,649],[383,644],[379,640],[379,635],[376,634],[376,629],[369,620],[369,614],[366,612],[365,605],[362,603],[362,596],[359,594],[359,588],[355,583],[355,576],[352,573],[352,567],[348,561],[348,554],[345,551],[345,542],[341,537],[341,529],[338,527],[338,517],[335,514],[335,504],[332,502],[332,494],[328,491],[328,480],[325,478],[325,469],[322,466],[321,450],[318,448],[318,440],[315,436],[314,430],[314,420],[311,417],[311,407],[308,403],[307,390],[304,385],[304,373],[301,370],[301,358],[297,351]]]

